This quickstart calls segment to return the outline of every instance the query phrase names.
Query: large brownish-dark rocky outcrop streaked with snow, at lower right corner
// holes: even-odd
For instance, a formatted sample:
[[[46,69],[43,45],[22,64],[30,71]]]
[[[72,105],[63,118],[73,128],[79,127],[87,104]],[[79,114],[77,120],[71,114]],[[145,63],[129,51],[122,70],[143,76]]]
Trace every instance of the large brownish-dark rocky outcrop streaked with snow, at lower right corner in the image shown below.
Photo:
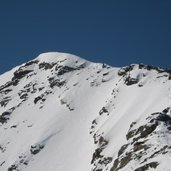
[[[150,159],[155,158],[158,155],[171,153],[171,147],[156,146],[149,143],[150,137],[153,135],[157,137],[156,128],[163,129],[163,126],[168,129],[168,134],[171,134],[171,117],[168,115],[169,108],[164,109],[163,112],[153,113],[146,118],[147,124],[141,125],[134,129],[136,122],[130,125],[130,129],[126,135],[128,140],[127,144],[124,144],[118,151],[118,157],[114,160],[111,171],[118,171],[127,166],[132,161],[141,161],[143,166],[135,169],[134,171],[146,171],[150,168],[156,168],[158,162],[148,162]],[[128,148],[129,147],[129,148]],[[148,155],[148,150],[151,149],[153,153]],[[144,156],[147,156],[145,159]]]

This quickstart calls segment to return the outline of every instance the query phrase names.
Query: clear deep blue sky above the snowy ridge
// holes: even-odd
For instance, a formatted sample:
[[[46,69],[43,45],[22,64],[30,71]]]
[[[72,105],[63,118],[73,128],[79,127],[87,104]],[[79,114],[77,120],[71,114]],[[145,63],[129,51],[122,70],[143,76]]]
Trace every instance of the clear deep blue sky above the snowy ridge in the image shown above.
[[[171,68],[171,0],[1,0],[0,73],[49,51]]]

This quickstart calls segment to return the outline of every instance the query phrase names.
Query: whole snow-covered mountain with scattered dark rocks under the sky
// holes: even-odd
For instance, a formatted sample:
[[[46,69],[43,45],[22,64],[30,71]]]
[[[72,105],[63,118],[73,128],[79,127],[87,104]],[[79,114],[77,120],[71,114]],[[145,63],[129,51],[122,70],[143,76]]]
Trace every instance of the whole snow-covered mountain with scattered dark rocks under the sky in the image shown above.
[[[171,71],[44,53],[0,76],[0,171],[171,171]]]

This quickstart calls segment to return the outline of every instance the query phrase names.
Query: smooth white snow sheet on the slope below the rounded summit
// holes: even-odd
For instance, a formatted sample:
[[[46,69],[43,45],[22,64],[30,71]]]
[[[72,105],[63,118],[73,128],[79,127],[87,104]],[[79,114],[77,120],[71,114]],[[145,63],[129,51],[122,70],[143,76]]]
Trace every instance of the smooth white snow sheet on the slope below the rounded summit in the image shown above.
[[[7,94],[0,94],[0,102],[10,97],[5,106],[0,106],[1,115],[4,111],[12,112],[7,123],[0,125],[2,171],[12,165],[20,171],[93,170],[91,160],[97,148],[90,134],[93,120],[94,133],[108,141],[102,154],[112,157],[111,165],[99,170],[110,171],[118,150],[126,143],[130,124],[139,121],[138,127],[145,122],[141,118],[168,107],[170,80],[164,74],[157,78],[157,71],[140,70],[136,65],[129,76],[138,78],[141,87],[139,83],[126,86],[125,76],[118,75],[119,68],[91,63],[75,55],[48,52],[34,60],[38,64],[26,68],[21,65],[23,71],[33,70],[33,75],[26,75],[17,85],[10,86]],[[40,70],[40,63],[57,64],[57,70]],[[82,64],[86,67],[77,70]],[[58,76],[60,65],[74,70]],[[1,75],[1,85],[11,81],[19,67]],[[49,80],[64,83],[51,88]],[[27,95],[23,99],[24,94]],[[106,111],[99,114],[104,107]],[[160,160],[163,162],[163,158]],[[160,166],[160,170],[166,170],[167,164]]]

